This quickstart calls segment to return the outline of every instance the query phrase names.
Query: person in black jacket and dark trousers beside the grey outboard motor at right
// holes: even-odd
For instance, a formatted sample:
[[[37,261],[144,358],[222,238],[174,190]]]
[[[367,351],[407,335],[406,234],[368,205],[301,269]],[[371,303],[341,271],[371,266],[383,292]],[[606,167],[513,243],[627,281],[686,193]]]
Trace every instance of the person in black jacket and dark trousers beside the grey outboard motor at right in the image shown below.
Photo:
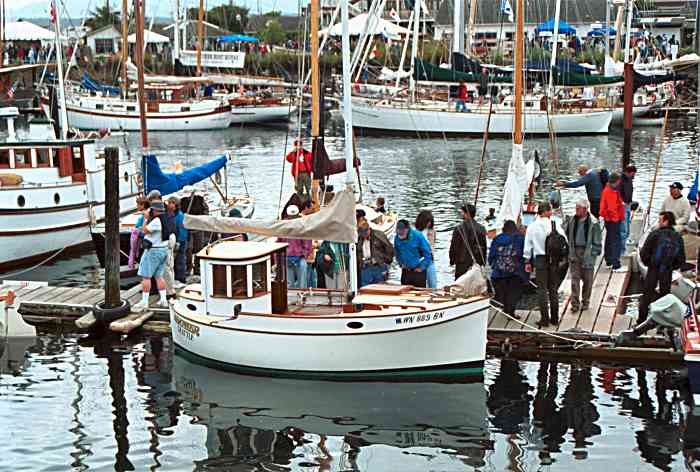
[[[649,233],[639,251],[640,259],[647,266],[647,275],[644,277],[637,324],[647,319],[652,302],[671,292],[673,271],[685,264],[685,245],[681,235],[674,229],[676,223],[673,212],[662,211],[659,227]]]

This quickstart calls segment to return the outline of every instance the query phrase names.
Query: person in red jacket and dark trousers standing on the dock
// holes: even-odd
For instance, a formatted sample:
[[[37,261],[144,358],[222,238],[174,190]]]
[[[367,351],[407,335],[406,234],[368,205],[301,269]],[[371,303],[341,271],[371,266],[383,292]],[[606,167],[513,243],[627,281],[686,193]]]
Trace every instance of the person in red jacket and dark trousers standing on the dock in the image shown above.
[[[620,174],[611,174],[600,195],[600,218],[605,222],[605,263],[613,272],[624,272],[620,264],[622,238],[620,225],[625,219],[625,204],[620,196]]]

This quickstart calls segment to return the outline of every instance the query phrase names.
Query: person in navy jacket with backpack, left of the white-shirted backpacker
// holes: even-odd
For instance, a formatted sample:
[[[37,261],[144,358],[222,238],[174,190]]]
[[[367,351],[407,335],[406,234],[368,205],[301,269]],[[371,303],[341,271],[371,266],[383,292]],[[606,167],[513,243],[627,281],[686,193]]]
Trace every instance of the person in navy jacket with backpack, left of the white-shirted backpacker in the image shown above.
[[[495,299],[503,306],[503,311],[510,316],[515,314],[515,307],[522,296],[528,280],[525,272],[523,250],[525,237],[518,233],[518,227],[512,220],[503,223],[501,234],[489,248],[489,266],[491,266],[491,283],[496,292]]]

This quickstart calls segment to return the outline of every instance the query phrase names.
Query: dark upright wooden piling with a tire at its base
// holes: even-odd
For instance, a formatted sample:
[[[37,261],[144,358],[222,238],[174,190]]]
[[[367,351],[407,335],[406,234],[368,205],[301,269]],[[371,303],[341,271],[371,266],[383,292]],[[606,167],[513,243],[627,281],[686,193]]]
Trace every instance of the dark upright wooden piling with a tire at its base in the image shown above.
[[[119,290],[119,149],[105,149],[105,308],[121,306]]]

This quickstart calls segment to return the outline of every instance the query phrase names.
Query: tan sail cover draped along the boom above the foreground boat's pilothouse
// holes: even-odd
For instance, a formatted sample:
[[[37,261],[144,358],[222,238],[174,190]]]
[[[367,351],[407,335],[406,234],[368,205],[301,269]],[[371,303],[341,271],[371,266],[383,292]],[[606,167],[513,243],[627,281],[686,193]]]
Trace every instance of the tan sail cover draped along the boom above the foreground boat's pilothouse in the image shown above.
[[[355,197],[351,191],[343,190],[335,195],[330,205],[311,215],[291,220],[256,221],[246,218],[185,215],[185,228],[214,233],[253,233],[291,239],[355,243]]]

